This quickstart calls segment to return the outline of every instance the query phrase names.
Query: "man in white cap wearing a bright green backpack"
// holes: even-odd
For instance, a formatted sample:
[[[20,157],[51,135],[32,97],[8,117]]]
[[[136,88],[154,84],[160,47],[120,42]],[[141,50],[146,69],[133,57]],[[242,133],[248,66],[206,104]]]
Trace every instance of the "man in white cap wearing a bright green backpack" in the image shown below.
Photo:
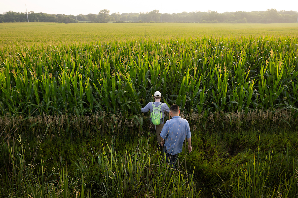
[[[170,109],[167,106],[167,104],[160,102],[160,99],[162,98],[162,94],[159,91],[156,91],[154,93],[154,99],[155,102],[149,102],[144,108],[142,108],[142,113],[148,112],[150,111],[150,114],[154,109],[160,108],[160,111],[162,113],[162,120],[161,123],[159,125],[155,125],[155,129],[156,129],[156,139],[158,144],[160,145],[161,139],[160,139],[160,132],[162,131],[162,127],[164,126],[164,111],[170,113]]]

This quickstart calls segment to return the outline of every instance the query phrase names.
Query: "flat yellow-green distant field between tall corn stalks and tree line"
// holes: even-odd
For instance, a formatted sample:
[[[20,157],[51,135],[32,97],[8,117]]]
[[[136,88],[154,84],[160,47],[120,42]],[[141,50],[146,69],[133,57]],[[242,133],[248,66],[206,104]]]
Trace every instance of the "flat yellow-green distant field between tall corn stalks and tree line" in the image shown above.
[[[297,37],[297,23],[147,23],[147,39]],[[145,39],[145,23],[1,23],[0,46],[84,44]]]

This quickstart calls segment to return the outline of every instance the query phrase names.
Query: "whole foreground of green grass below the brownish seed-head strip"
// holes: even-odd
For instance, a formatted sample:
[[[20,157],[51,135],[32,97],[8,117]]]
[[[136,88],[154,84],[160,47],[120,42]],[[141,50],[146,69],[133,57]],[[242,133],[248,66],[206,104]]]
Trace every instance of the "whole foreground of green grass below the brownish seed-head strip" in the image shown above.
[[[293,130],[192,131],[193,151],[185,141],[178,171],[163,162],[154,133],[126,142],[16,133],[0,144],[1,197],[297,197]]]

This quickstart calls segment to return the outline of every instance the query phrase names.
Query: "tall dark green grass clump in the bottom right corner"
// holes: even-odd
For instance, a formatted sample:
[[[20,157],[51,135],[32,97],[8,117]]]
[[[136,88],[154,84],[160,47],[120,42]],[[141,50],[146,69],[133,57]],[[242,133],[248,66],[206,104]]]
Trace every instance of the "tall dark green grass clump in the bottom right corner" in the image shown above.
[[[277,153],[270,149],[261,155],[260,145],[259,135],[256,159],[237,164],[232,184],[225,185],[224,191],[216,189],[222,197],[298,197],[298,160],[286,150]]]

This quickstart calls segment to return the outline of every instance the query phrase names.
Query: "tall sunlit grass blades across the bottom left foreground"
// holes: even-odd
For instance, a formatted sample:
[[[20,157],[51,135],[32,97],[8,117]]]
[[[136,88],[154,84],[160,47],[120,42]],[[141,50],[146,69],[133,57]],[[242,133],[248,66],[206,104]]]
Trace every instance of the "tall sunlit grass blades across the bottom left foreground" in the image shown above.
[[[110,146],[102,144],[98,151],[91,149],[90,155],[73,159],[72,163],[77,166],[73,172],[67,170],[63,161],[58,170],[46,170],[45,161],[39,166],[27,164],[24,147],[15,153],[8,148],[13,153],[10,155],[13,171],[0,180],[3,190],[0,195],[34,198],[199,196],[193,173],[174,171],[166,163],[160,164],[161,153],[152,153],[148,142],[142,139],[132,148],[117,152],[113,142]]]

